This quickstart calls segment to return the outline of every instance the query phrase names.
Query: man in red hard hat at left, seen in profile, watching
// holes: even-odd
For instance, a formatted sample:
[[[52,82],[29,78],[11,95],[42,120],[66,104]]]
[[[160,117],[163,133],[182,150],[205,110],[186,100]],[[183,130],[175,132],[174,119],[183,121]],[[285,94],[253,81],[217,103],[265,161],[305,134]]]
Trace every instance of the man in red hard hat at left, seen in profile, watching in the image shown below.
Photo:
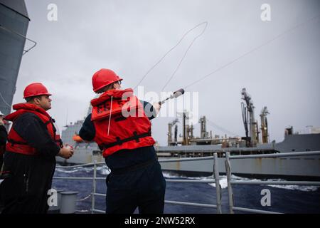
[[[3,214],[43,214],[48,210],[48,190],[55,172],[55,156],[66,159],[73,150],[63,147],[51,108],[50,93],[42,83],[26,86],[26,103],[13,105],[5,119],[13,125],[4,154],[4,181],[0,185]]]

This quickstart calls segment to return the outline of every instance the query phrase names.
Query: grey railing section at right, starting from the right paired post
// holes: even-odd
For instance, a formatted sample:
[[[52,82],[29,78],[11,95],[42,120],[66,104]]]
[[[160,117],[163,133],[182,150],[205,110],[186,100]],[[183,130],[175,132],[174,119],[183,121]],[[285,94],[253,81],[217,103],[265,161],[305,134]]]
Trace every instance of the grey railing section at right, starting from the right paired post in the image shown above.
[[[228,182],[228,202],[229,212],[233,214],[234,211],[253,212],[263,214],[279,214],[279,212],[271,212],[260,209],[250,209],[245,207],[235,207],[235,199],[233,195],[232,185],[312,185],[319,186],[320,182],[311,181],[245,181],[245,180],[233,180],[230,160],[233,159],[248,159],[248,158],[262,158],[262,157],[297,157],[297,156],[312,156],[320,155],[320,151],[306,151],[306,152],[282,152],[274,154],[262,154],[262,155],[230,155],[230,152],[225,152],[225,170],[227,172]]]

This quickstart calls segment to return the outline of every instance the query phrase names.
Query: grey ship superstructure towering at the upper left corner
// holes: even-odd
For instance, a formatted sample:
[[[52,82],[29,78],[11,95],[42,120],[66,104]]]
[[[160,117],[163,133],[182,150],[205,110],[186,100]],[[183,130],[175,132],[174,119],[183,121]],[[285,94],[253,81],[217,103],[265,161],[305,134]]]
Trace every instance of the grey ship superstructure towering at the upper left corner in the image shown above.
[[[0,110],[11,111],[30,19],[23,0],[0,0]],[[35,44],[35,42],[34,42]]]

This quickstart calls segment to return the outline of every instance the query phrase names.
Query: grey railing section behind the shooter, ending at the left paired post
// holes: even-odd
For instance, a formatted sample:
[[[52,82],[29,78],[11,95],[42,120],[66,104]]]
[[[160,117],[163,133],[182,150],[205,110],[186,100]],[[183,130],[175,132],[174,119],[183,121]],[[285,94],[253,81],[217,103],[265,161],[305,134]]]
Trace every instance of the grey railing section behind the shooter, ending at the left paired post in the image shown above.
[[[188,158],[179,158],[179,159],[168,159],[168,160],[159,160],[159,162],[187,162],[191,160],[213,160],[213,176],[214,178],[209,180],[172,180],[166,179],[166,182],[180,182],[180,183],[215,183],[215,193],[216,193],[216,204],[202,204],[195,202],[181,202],[181,201],[172,201],[165,200],[166,204],[178,204],[185,206],[193,207],[210,207],[215,208],[218,214],[222,213],[221,209],[221,186],[220,186],[220,177],[218,171],[218,155],[215,152],[213,156],[208,157],[188,157]],[[55,179],[63,180],[92,180],[92,192],[91,192],[91,213],[105,213],[105,211],[95,208],[95,197],[105,197],[105,194],[96,192],[97,180],[105,180],[105,177],[97,177],[97,165],[105,165],[105,162],[92,162],[84,165],[72,165],[72,166],[57,166],[58,168],[74,168],[74,167],[85,167],[93,165],[93,177],[53,177]]]

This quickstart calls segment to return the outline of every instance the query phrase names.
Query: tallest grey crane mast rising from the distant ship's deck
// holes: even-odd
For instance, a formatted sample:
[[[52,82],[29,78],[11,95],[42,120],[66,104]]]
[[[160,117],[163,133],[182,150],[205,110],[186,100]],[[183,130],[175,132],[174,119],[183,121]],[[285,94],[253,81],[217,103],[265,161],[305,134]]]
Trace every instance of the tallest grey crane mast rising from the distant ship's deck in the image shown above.
[[[259,142],[259,131],[257,121],[255,120],[255,106],[251,100],[251,96],[247,93],[245,88],[242,88],[242,100],[245,100],[245,104],[241,103],[242,106],[242,119],[245,125],[245,140],[247,146],[255,146]],[[249,123],[248,123],[249,116]],[[249,129],[248,129],[249,125]]]

